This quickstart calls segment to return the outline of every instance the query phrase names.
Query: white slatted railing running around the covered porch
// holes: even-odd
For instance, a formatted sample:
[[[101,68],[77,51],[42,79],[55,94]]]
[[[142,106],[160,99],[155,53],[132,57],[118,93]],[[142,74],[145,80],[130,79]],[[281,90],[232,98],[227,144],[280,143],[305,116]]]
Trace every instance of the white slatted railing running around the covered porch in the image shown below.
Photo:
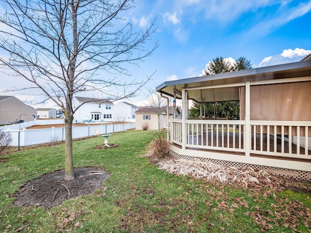
[[[186,120],[185,123],[186,135],[182,135],[182,120],[171,120],[171,142],[184,144],[187,149],[311,159],[309,121],[250,121],[249,140],[245,138],[244,120]],[[246,141],[250,142],[249,147]],[[247,148],[250,151],[245,151]]]

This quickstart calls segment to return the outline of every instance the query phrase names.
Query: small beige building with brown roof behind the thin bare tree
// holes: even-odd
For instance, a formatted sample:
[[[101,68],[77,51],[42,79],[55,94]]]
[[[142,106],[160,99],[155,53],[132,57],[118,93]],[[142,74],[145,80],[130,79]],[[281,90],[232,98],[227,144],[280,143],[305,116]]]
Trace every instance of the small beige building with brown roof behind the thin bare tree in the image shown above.
[[[173,117],[174,113],[174,107],[170,107],[169,109],[169,117]],[[148,130],[157,130],[158,129],[158,116],[155,113],[155,109],[146,106],[146,107],[141,107],[139,108],[136,112],[136,130],[142,130],[143,126],[145,124],[148,124]],[[176,118],[179,118],[181,112],[180,108],[176,107]],[[161,110],[161,114],[159,115],[160,119],[160,129],[166,128],[167,127],[167,107],[164,106],[163,109]]]

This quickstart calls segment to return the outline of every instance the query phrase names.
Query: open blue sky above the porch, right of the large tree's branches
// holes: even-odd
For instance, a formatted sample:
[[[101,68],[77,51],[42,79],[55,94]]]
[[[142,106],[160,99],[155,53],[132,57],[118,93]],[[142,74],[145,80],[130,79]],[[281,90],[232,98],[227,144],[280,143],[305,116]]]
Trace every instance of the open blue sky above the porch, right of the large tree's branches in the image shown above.
[[[136,0],[124,17],[137,29],[155,19],[146,46],[158,41],[159,48],[139,67],[129,67],[138,80],[156,71],[148,86],[196,77],[219,56],[244,56],[260,67],[311,53],[311,0]],[[129,101],[141,105],[144,97],[142,90]]]

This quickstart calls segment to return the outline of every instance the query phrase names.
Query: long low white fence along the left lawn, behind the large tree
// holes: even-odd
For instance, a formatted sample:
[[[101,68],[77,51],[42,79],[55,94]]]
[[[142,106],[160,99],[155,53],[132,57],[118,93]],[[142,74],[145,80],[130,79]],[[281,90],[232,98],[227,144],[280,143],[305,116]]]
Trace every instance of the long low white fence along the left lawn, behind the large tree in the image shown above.
[[[72,138],[89,137],[107,133],[116,133],[135,129],[135,123],[126,124],[102,124],[86,125],[81,127],[72,127]],[[27,130],[5,130],[4,133],[10,133],[12,143],[10,146],[30,146],[41,143],[55,142],[65,140],[65,128],[34,129]]]

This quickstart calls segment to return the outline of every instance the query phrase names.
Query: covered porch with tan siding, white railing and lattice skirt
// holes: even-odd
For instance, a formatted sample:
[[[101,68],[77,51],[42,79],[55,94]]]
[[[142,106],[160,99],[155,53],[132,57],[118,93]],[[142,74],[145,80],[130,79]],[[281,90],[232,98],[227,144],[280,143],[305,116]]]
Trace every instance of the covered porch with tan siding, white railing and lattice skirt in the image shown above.
[[[310,58],[156,87],[157,92],[182,100],[182,119],[171,120],[171,153],[311,181]],[[239,100],[241,119],[189,119],[189,100]]]

